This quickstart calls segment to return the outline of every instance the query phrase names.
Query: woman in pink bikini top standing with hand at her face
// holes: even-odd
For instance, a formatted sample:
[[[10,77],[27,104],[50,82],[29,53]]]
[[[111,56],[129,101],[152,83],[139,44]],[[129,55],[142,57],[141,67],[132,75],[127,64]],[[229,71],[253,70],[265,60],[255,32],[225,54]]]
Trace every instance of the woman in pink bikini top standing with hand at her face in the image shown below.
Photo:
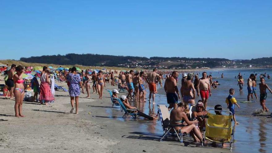
[[[14,96],[15,96],[15,117],[24,117],[22,114],[23,109],[23,97],[24,97],[24,86],[23,86],[23,66],[19,65],[15,68],[16,74],[13,75],[15,83]]]

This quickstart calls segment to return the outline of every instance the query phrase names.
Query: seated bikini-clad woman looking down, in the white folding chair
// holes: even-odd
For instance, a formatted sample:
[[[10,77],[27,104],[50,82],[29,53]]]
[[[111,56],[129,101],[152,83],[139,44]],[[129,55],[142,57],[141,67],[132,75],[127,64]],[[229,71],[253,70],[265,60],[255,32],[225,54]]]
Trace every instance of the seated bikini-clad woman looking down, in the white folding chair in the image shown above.
[[[187,124],[186,126],[175,127],[175,130],[181,130],[181,133],[191,133],[191,135],[194,134],[197,136],[200,142],[202,142],[203,136],[198,129],[198,126],[195,125],[198,123],[198,120],[189,121],[186,115],[186,113],[189,112],[188,106],[184,102],[178,103],[177,106],[178,107],[173,109],[170,113],[170,124],[184,124],[185,122]],[[196,138],[194,138],[194,140],[196,141]]]

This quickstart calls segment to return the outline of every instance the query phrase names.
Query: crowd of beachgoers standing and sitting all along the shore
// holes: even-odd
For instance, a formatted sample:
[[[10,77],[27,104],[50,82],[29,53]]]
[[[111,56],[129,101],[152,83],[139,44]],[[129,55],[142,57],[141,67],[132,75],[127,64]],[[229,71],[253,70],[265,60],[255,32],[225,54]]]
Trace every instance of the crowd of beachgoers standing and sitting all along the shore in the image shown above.
[[[23,74],[25,74],[26,68],[14,64],[11,68],[6,71],[6,99],[8,96],[15,97],[15,117],[24,117],[23,115],[23,99],[24,99],[24,79]],[[69,87],[71,110],[70,113],[74,112],[74,101],[75,101],[75,113],[79,113],[79,95],[81,91],[87,92],[87,98],[90,98],[91,83],[93,88],[93,94],[98,94],[99,99],[103,98],[103,90],[106,87],[106,83],[110,83],[111,86],[118,86],[119,89],[125,89],[128,94],[120,96],[120,100],[123,102],[126,108],[136,109],[133,110],[137,112],[139,116],[145,117],[149,120],[156,120],[158,116],[147,115],[136,107],[133,107],[129,103],[129,99],[135,99],[137,102],[147,102],[145,89],[146,86],[149,88],[149,103],[155,104],[155,95],[157,91],[157,85],[162,87],[164,83],[164,91],[166,93],[167,103],[169,104],[168,110],[170,113],[170,124],[183,124],[185,126],[175,127],[177,131],[182,129],[182,132],[191,133],[195,141],[202,142],[203,135],[201,130],[205,128],[205,121],[207,115],[208,99],[212,95],[211,88],[216,89],[217,85],[220,85],[218,81],[213,81],[212,75],[208,75],[206,72],[202,73],[202,77],[198,76],[200,73],[186,74],[182,73],[181,88],[180,91],[177,87],[178,85],[178,71],[158,71],[156,68],[152,71],[140,71],[134,72],[130,70],[129,72],[121,71],[119,74],[117,71],[110,71],[105,73],[101,70],[96,73],[96,71],[85,70],[79,72],[76,67],[72,67],[69,70],[57,70],[49,71],[48,67],[44,66],[40,73],[36,73],[31,81],[31,88],[34,91],[33,101],[40,102],[40,104],[50,104],[54,102],[54,84],[55,79],[59,79],[67,83]],[[163,77],[165,76],[165,78]],[[38,81],[40,77],[40,83]],[[223,73],[221,74],[223,78]],[[272,94],[271,89],[265,83],[265,74],[260,75],[260,104],[263,111],[268,112],[269,109],[266,107],[267,93],[266,89]],[[235,76],[236,78],[236,76]],[[239,73],[238,84],[240,91],[243,89],[244,79]],[[250,74],[247,80],[247,90],[248,96],[247,100],[254,96],[257,99],[256,87],[257,87],[257,74]],[[267,75],[267,79],[270,76]],[[81,90],[80,90],[81,88]],[[113,90],[113,97],[118,98],[119,91],[117,89]],[[233,116],[235,124],[239,124],[235,117],[235,105],[240,108],[237,104],[237,100],[234,97],[235,90],[233,88],[229,89],[229,95],[227,96],[225,102],[226,107],[229,109]],[[38,96],[39,95],[39,96]],[[188,104],[195,104],[196,96],[200,96],[201,100],[196,103],[196,111],[193,114],[193,120],[188,119]],[[180,100],[179,100],[180,99]],[[181,102],[179,102],[181,101]],[[222,110],[221,105],[216,105],[216,110]],[[220,112],[216,112],[220,115]]]

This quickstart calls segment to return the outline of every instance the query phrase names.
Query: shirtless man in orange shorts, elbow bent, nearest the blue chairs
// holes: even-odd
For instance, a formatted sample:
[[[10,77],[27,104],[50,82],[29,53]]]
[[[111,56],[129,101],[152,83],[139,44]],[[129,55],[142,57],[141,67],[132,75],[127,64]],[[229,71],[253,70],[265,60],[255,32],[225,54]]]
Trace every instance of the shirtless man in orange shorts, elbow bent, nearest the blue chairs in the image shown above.
[[[157,93],[157,85],[156,85],[156,80],[161,79],[159,74],[156,73],[157,69],[153,69],[153,72],[149,73],[147,75],[147,83],[149,85],[149,103],[151,103],[151,95],[152,95],[152,100],[153,104],[155,104],[155,94]]]

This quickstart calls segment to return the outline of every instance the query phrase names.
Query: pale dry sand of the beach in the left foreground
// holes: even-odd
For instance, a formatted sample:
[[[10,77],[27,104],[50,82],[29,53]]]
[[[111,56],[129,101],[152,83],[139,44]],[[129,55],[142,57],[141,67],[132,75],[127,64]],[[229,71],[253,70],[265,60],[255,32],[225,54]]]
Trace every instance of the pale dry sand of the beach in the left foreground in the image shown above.
[[[57,84],[67,88],[66,83]],[[117,87],[107,84],[106,88]],[[14,117],[15,101],[2,96],[0,119],[8,121],[0,122],[0,152],[228,152],[202,148],[199,143],[189,143],[189,147],[185,147],[185,143],[177,141],[158,142],[159,137],[136,134],[132,127],[142,119],[126,124],[126,119],[106,117],[105,108],[115,109],[118,118],[123,112],[108,108],[111,106],[109,95],[106,90],[103,93],[102,100],[97,94],[91,94],[90,99],[81,94],[77,115],[69,113],[69,93],[56,91],[55,103],[49,106],[24,102],[26,117],[23,118]],[[185,138],[185,141],[192,140]]]

